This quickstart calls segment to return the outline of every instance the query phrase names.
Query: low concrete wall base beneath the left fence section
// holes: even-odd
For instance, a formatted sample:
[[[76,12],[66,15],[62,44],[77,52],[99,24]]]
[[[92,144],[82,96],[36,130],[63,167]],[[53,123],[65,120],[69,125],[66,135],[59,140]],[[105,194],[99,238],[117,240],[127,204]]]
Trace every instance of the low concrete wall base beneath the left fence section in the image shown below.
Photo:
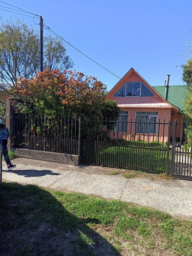
[[[23,148],[13,148],[17,157],[31,158],[41,161],[49,161],[63,164],[79,165],[79,156],[67,155],[54,152],[24,150]]]

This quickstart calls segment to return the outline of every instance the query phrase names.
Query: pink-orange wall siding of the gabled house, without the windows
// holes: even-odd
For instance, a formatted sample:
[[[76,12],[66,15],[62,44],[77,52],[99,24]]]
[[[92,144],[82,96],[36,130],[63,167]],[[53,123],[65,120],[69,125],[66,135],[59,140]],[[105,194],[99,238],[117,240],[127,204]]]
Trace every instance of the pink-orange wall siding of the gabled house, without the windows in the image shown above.
[[[135,97],[135,96],[129,96],[129,97],[114,97],[114,94],[123,86],[125,82],[142,82],[145,87],[147,87],[154,96],[152,97]],[[120,106],[122,111],[127,111],[127,121],[130,122],[127,124],[127,133],[126,132],[119,132],[119,133],[112,133],[111,136],[113,136],[115,139],[141,139],[141,140],[158,140],[160,142],[166,142],[168,138],[168,122],[171,119],[172,121],[174,119],[178,119],[178,123],[181,122],[182,116],[177,114],[179,109],[177,109],[172,104],[168,103],[160,94],[158,94],[151,86],[148,84],[134,69],[131,69],[129,72],[125,74],[125,76],[120,80],[116,86],[107,94],[107,97],[109,99],[115,100],[118,103],[118,106]],[[136,121],[136,112],[158,112],[157,116],[157,122],[162,124],[157,124],[157,133],[156,134],[150,134],[148,138],[148,134],[138,134],[135,133],[135,123],[132,123],[131,121]],[[174,116],[172,116],[172,113],[175,113]],[[165,125],[163,123],[165,122]],[[179,132],[177,132],[177,135],[179,135]],[[180,136],[180,135],[179,135]],[[178,136],[178,137],[179,137]]]

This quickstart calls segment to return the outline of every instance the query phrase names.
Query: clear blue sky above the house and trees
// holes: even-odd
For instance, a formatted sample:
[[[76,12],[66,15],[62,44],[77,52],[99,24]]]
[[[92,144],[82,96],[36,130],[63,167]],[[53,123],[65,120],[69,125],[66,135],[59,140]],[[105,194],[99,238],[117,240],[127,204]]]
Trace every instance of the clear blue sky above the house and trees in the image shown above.
[[[54,32],[120,77],[134,68],[151,86],[163,86],[167,74],[170,85],[182,84],[182,69],[177,66],[186,63],[186,42],[192,38],[191,0],[4,2],[41,15]],[[5,19],[22,18],[3,10],[0,13]],[[31,17],[24,19],[39,30],[38,19],[37,25]],[[75,63],[74,69],[97,77],[108,91],[118,82],[117,77],[68,45],[67,52]]]

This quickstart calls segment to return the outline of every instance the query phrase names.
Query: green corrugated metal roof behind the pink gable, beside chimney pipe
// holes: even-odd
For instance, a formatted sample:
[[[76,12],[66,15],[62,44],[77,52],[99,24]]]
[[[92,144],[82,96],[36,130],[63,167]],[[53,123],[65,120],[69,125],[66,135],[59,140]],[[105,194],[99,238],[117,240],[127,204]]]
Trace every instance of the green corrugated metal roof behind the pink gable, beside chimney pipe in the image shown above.
[[[153,88],[164,98],[165,86],[153,86]],[[186,95],[188,95],[186,86],[169,86],[167,101],[180,109],[180,112],[183,112],[183,101]]]

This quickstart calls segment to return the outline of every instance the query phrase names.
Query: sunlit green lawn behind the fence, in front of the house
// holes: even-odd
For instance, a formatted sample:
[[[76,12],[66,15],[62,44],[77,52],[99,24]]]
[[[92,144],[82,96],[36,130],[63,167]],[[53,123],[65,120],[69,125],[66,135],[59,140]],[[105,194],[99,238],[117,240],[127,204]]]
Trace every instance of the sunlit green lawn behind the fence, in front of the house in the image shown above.
[[[170,152],[171,153],[171,152]],[[169,163],[171,155],[169,153]],[[99,153],[99,163],[112,167],[144,170],[150,173],[164,173],[166,170],[166,148],[136,146],[111,146]]]

